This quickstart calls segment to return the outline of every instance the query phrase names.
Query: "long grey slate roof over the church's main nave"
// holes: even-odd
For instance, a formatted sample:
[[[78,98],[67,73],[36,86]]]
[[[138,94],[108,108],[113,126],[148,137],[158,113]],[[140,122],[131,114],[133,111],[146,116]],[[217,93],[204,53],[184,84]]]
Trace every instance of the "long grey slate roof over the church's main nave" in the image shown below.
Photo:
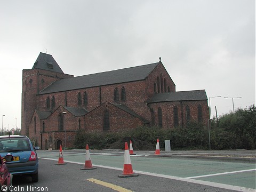
[[[158,65],[158,63],[159,62],[73,78],[60,79],[53,82],[38,94],[143,80],[151,73],[151,71]]]

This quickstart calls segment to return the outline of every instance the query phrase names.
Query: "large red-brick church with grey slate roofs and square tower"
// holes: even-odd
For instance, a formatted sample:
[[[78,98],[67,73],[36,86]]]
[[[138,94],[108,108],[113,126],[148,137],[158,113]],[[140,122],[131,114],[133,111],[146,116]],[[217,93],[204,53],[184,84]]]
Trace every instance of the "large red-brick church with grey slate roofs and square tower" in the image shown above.
[[[73,147],[77,130],[122,132],[137,126],[163,129],[207,126],[205,90],[175,91],[159,62],[74,77],[52,55],[40,53],[22,70],[21,132],[41,149]]]

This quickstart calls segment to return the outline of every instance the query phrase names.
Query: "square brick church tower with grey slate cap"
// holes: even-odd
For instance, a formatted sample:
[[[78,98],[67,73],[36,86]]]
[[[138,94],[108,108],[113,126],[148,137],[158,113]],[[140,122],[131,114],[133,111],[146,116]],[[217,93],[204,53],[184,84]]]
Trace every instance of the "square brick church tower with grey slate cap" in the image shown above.
[[[52,55],[46,53],[38,55],[31,69],[22,70],[21,134],[29,137],[29,123],[37,109],[36,94],[51,83],[70,77],[73,75],[64,74]]]

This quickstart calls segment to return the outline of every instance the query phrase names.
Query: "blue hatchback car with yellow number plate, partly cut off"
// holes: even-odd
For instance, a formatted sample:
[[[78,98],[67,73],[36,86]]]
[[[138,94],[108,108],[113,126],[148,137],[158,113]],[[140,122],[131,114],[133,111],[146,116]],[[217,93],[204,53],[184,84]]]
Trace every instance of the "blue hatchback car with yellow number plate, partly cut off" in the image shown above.
[[[0,155],[11,154],[14,158],[6,163],[9,172],[13,175],[30,175],[33,182],[38,181],[38,149],[24,135],[0,136]]]

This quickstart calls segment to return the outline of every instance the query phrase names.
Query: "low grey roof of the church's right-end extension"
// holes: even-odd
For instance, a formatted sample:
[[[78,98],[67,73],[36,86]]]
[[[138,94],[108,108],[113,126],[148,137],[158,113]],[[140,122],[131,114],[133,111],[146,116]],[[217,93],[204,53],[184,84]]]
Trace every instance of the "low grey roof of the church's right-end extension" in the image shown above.
[[[205,90],[178,91],[167,93],[156,93],[150,99],[149,103],[166,102],[166,101],[196,101],[207,100]]]

